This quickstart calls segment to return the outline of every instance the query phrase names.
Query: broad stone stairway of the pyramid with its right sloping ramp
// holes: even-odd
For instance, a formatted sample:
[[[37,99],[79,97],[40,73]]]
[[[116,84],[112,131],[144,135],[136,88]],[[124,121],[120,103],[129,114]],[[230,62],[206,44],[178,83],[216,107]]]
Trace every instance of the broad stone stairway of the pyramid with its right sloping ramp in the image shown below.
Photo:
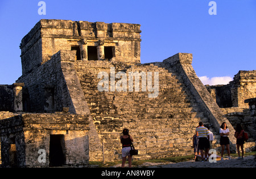
[[[184,54],[179,55],[172,57],[177,58],[176,60],[167,60],[155,65],[125,66],[109,61],[75,61],[76,73],[98,136],[100,141],[105,143],[106,160],[120,157],[119,135],[125,127],[130,128],[141,158],[188,153],[191,136],[195,133],[195,127],[200,120],[210,126],[218,143],[219,127],[224,121],[229,124],[228,119],[222,116],[217,104],[210,98],[207,89],[200,84],[199,78],[193,72],[192,56],[188,57],[190,64],[179,67],[186,59]],[[158,72],[158,97],[148,98],[148,91],[144,92],[142,89],[139,92],[118,92],[110,89],[108,92],[98,91],[97,84],[101,79],[97,78],[97,74],[106,72],[110,79],[111,67],[115,68],[115,74]],[[183,71],[180,68],[183,68]],[[115,79],[115,82],[117,81],[118,79]],[[139,82],[142,84],[141,80]],[[233,129],[231,128],[230,131]],[[235,143],[233,136],[230,140]],[[93,154],[90,157],[92,159]]]

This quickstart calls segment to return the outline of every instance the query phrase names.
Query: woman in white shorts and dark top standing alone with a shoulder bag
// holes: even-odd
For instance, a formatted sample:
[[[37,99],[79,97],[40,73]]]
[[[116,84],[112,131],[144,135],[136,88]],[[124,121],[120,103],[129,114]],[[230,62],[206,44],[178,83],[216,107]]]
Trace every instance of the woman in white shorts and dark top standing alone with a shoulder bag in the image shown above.
[[[130,168],[131,167],[130,150],[131,150],[131,142],[133,141],[133,138],[131,138],[131,136],[129,135],[129,130],[127,130],[127,128],[123,130],[123,136],[120,137],[120,141],[122,143],[122,168],[125,167],[126,156],[128,156],[128,164]]]

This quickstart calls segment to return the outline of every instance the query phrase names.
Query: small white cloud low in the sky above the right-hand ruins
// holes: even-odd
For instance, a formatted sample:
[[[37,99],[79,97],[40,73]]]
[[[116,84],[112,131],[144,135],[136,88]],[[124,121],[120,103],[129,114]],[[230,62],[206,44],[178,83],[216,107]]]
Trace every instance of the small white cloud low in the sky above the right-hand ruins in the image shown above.
[[[199,77],[204,85],[226,85],[233,80],[232,77],[212,77],[207,76]]]

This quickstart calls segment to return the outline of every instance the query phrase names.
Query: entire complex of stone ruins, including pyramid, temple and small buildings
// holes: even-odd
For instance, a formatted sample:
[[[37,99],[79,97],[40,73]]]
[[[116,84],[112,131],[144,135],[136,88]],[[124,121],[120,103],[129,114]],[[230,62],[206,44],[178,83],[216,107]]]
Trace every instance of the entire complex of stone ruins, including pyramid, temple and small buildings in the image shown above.
[[[200,121],[213,131],[216,149],[222,122],[229,126],[233,151],[237,122],[249,132],[247,147],[254,147],[255,70],[239,72],[229,85],[206,88],[193,70],[192,54],[141,64],[140,33],[139,24],[40,20],[20,43],[22,76],[0,85],[2,166],[121,160],[123,128],[130,129],[139,150],[134,159],[189,155]],[[101,72],[109,77],[109,90],[98,90]],[[119,72],[141,78],[133,90],[113,90]],[[148,80],[148,72],[153,86],[159,79],[153,98],[148,82],[143,90],[142,74]]]

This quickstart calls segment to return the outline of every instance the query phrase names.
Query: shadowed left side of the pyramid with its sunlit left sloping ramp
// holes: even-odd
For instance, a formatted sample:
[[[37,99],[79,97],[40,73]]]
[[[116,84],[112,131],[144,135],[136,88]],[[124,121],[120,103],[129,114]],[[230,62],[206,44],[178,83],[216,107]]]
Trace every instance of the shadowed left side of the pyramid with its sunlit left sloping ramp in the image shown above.
[[[89,115],[90,151],[99,153],[99,157],[97,154],[94,157],[102,160],[101,143],[92,123],[84,92],[73,66],[74,62],[75,52],[61,50],[30,74],[23,74],[16,82],[24,82],[23,101],[26,102],[24,107],[29,112],[53,112],[69,107],[69,112],[72,114]],[[52,89],[52,93],[48,94],[48,89]]]

